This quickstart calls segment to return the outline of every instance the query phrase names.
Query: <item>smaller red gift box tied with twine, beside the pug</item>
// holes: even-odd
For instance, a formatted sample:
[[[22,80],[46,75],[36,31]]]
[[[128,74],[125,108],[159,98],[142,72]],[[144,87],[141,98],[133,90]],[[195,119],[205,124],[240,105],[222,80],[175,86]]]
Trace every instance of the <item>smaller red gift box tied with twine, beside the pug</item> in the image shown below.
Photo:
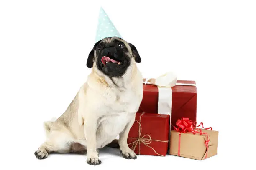
[[[169,115],[136,113],[128,146],[138,155],[165,156],[169,142]]]

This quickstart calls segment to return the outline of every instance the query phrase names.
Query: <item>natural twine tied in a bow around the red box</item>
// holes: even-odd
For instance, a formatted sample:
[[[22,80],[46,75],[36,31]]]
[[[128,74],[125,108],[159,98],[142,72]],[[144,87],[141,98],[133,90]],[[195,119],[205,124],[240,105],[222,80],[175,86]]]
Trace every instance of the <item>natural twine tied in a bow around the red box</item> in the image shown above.
[[[135,120],[135,122],[138,122],[138,125],[139,125],[138,138],[128,138],[128,139],[136,139],[135,141],[129,143],[128,145],[132,145],[131,146],[131,150],[133,150],[133,151],[136,149],[136,147],[138,145],[138,155],[140,155],[140,150],[141,150],[140,147],[141,147],[141,143],[143,143],[145,146],[151,148],[157,155],[164,156],[164,155],[161,155],[161,154],[157,153],[154,148],[149,146],[149,144],[151,144],[152,141],[165,142],[166,143],[166,142],[169,142],[169,140],[155,140],[155,139],[151,139],[151,136],[148,135],[148,134],[143,135],[141,137],[141,132],[142,132],[141,117],[142,117],[142,115],[144,115],[144,113],[141,114],[139,121]]]

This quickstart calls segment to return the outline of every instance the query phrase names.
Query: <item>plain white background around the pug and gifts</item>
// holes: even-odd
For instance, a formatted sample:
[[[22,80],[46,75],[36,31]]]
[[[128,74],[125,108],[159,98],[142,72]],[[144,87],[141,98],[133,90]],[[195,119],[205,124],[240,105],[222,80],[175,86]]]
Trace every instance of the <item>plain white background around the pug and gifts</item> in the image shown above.
[[[125,160],[118,150],[37,160],[43,121],[59,117],[86,81],[100,5],[141,55],[144,77],[174,71],[197,83],[197,121],[219,130],[218,155]],[[245,167],[255,151],[256,4],[248,0],[1,0],[0,166],[34,169]],[[251,126],[251,127],[250,127]],[[253,128],[254,127],[254,128]],[[250,133],[249,133],[250,132]],[[246,163],[247,162],[247,163]],[[0,168],[3,169],[3,168]]]

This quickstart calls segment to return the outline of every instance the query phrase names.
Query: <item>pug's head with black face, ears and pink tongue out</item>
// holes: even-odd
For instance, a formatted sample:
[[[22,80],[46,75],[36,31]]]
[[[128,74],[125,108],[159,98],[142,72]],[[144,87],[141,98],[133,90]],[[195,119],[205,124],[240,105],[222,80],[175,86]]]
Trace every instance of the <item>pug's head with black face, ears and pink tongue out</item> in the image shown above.
[[[141,62],[134,45],[118,37],[108,37],[96,42],[87,59],[87,67],[95,65],[109,77],[121,77],[133,60]]]

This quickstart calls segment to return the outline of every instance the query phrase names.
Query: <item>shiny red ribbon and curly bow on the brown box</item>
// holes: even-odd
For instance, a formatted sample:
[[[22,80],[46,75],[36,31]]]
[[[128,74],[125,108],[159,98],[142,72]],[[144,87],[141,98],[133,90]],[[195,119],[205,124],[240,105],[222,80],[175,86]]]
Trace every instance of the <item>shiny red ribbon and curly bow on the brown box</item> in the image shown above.
[[[178,155],[180,156],[180,140],[181,140],[181,133],[187,133],[187,132],[191,132],[193,134],[199,133],[200,135],[206,135],[206,140],[205,140],[205,146],[206,146],[206,154],[205,154],[205,158],[207,158],[207,153],[208,153],[208,148],[209,148],[209,142],[210,142],[210,136],[205,133],[202,132],[201,129],[198,129],[196,127],[200,127],[202,126],[203,129],[206,130],[212,130],[212,127],[209,128],[205,128],[204,124],[201,122],[198,126],[196,122],[193,122],[192,120],[189,120],[189,118],[187,117],[182,117],[182,119],[177,120],[176,122],[177,127],[174,127],[174,130],[176,130],[177,132],[179,132],[179,147],[178,147]]]

